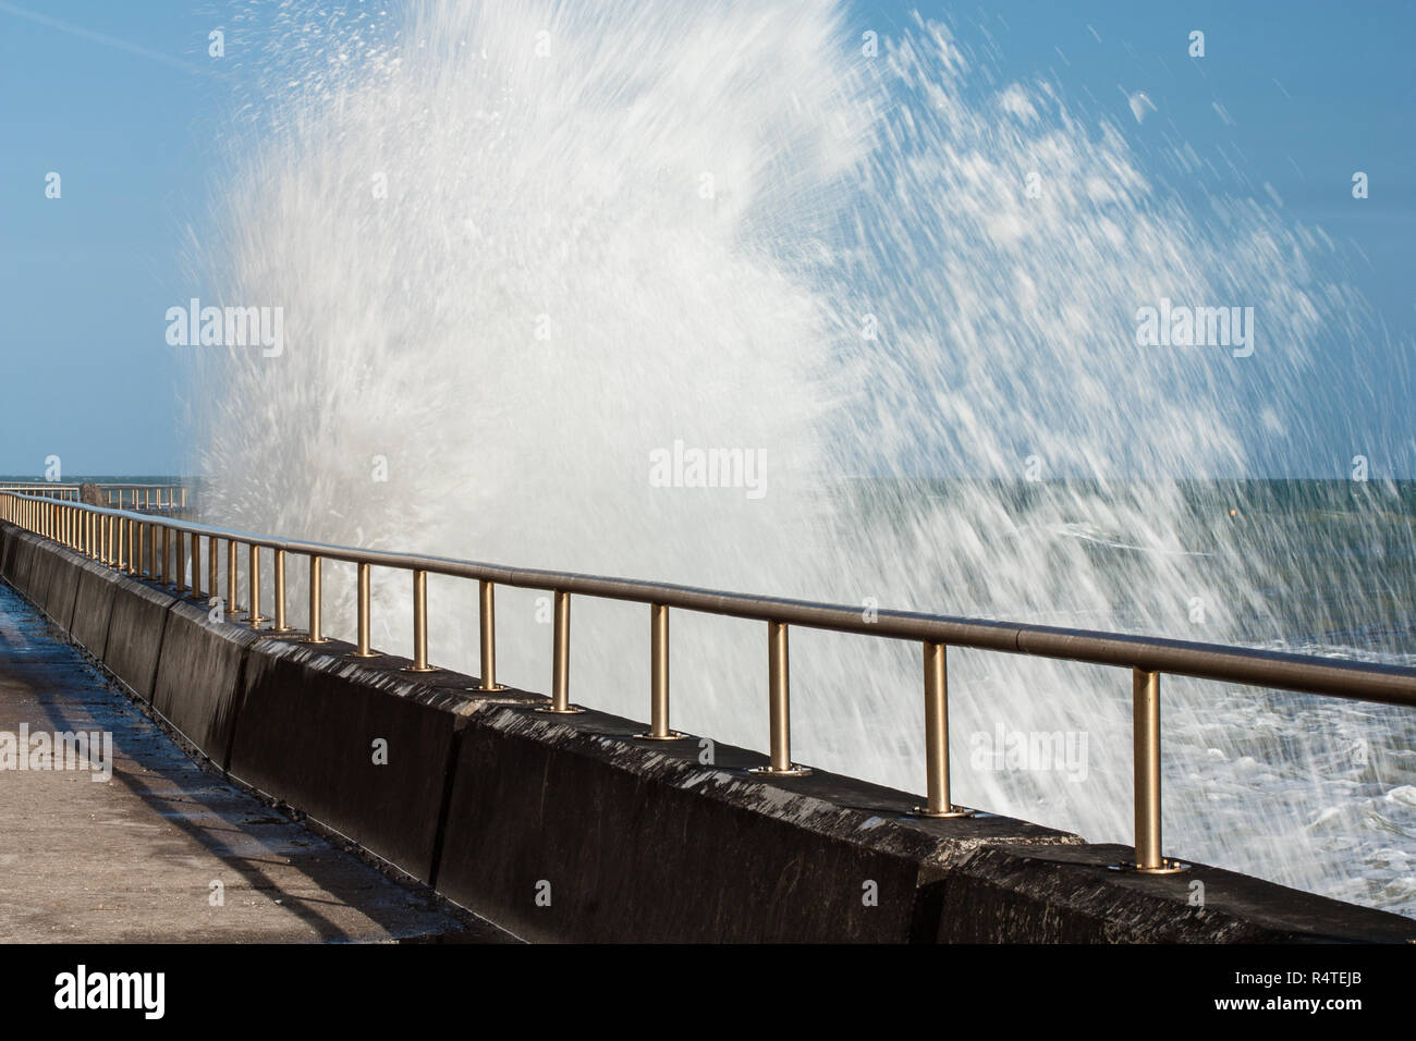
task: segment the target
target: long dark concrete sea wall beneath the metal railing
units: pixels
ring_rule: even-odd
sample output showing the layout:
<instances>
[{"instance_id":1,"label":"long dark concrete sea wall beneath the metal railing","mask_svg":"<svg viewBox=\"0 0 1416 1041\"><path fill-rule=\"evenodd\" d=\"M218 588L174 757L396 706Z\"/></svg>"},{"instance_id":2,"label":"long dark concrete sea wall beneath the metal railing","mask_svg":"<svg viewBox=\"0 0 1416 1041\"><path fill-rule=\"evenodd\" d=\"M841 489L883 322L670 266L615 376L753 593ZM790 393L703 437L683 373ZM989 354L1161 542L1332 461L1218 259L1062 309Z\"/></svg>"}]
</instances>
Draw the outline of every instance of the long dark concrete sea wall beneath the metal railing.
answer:
<instances>
[{"instance_id":1,"label":"long dark concrete sea wall beneath the metal railing","mask_svg":"<svg viewBox=\"0 0 1416 1041\"><path fill-rule=\"evenodd\" d=\"M919 820L905 792L765 779L748 772L763 755L722 744L707 765L697 741L634 739L641 722L212 622L3 523L0 578L214 769L530 940L1416 939L1398 915L1202 864L1121 874L1123 847L994 814Z\"/></svg>"}]
</instances>

